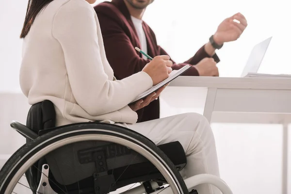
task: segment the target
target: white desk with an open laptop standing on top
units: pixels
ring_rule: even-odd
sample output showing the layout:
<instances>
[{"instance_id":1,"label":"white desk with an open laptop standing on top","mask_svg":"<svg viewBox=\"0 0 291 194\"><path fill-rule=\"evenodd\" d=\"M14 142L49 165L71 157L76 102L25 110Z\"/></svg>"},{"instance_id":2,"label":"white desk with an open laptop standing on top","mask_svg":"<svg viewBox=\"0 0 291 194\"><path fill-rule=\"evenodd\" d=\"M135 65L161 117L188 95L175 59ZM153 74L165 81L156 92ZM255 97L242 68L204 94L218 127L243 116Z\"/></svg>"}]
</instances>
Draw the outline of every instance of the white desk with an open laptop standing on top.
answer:
<instances>
[{"instance_id":1,"label":"white desk with an open laptop standing on top","mask_svg":"<svg viewBox=\"0 0 291 194\"><path fill-rule=\"evenodd\" d=\"M287 194L288 124L291 123L291 79L286 78L218 78L178 77L172 81L162 99L177 108L189 108L204 102L175 100L183 90L198 87L206 91L204 116L218 123L270 123L283 125L282 194ZM195 89L196 90L196 89ZM193 95L193 93L191 94ZM198 92L197 95L203 95ZM198 97L199 98L199 97ZM203 99L199 98L199 99Z\"/></svg>"}]
</instances>

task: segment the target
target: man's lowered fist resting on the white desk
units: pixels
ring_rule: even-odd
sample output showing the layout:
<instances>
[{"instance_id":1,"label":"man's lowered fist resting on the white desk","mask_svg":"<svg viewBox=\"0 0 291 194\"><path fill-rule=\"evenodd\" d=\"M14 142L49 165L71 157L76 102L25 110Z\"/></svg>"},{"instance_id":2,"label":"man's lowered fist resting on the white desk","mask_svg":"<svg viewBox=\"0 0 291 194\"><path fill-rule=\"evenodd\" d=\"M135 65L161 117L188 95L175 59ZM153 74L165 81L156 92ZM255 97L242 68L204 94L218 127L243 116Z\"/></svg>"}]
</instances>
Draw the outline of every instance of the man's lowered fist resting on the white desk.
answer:
<instances>
[{"instance_id":1,"label":"man's lowered fist resting on the white desk","mask_svg":"<svg viewBox=\"0 0 291 194\"><path fill-rule=\"evenodd\" d=\"M194 67L197 69L199 76L219 76L218 68L213 58L204 58Z\"/></svg>"}]
</instances>

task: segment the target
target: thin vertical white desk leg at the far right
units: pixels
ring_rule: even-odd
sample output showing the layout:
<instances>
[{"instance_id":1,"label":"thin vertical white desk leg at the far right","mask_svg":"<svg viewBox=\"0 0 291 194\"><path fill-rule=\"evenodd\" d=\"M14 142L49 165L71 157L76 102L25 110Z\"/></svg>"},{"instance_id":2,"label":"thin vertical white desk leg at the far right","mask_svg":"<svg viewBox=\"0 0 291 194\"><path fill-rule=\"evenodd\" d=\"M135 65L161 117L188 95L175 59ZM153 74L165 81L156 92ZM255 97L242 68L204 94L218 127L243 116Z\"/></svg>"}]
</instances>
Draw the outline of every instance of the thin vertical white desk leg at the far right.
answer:
<instances>
[{"instance_id":1,"label":"thin vertical white desk leg at the far right","mask_svg":"<svg viewBox=\"0 0 291 194\"><path fill-rule=\"evenodd\" d=\"M282 194L288 190L288 123L283 124Z\"/></svg>"}]
</instances>

